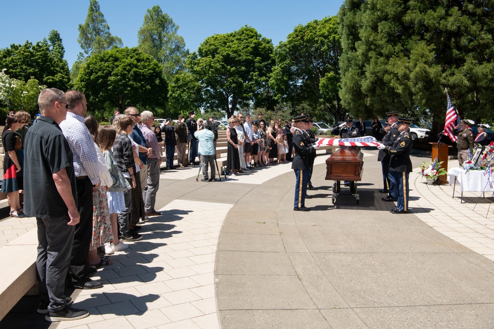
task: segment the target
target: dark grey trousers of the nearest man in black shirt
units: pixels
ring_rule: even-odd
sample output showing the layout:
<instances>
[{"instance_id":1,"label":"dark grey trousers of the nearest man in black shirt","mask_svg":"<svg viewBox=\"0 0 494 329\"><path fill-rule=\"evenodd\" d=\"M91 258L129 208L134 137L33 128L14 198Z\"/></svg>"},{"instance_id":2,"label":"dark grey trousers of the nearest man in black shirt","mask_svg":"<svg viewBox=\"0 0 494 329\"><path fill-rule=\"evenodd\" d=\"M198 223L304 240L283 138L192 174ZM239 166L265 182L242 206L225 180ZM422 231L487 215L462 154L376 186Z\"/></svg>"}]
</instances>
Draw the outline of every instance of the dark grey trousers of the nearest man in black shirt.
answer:
<instances>
[{"instance_id":1,"label":"dark grey trousers of the nearest man in black shirt","mask_svg":"<svg viewBox=\"0 0 494 329\"><path fill-rule=\"evenodd\" d=\"M75 226L67 225L69 216L36 218L38 223L38 257L36 269L40 299L49 303L52 312L65 308L65 277L69 268ZM20 255L21 256L21 255Z\"/></svg>"}]
</instances>

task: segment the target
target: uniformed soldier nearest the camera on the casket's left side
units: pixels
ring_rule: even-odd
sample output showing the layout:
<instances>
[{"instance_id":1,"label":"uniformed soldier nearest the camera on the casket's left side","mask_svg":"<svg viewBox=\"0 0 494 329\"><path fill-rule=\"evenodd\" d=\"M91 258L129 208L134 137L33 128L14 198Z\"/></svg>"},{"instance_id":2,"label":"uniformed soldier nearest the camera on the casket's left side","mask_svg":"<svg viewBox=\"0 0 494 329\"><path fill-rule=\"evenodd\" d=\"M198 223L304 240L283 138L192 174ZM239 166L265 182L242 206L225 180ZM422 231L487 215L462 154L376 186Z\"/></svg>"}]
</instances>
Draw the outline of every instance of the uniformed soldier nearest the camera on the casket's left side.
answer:
<instances>
[{"instance_id":1,"label":"uniformed soldier nearest the camera on the casket's left side","mask_svg":"<svg viewBox=\"0 0 494 329\"><path fill-rule=\"evenodd\" d=\"M310 211L305 207L305 195L307 193L307 181L310 168L310 153L319 148L311 145L310 138L305 129L307 129L308 120L306 115L300 115L293 118L295 131L293 132L293 148L295 157L291 162L291 169L295 172L295 200L293 203L294 211Z\"/></svg>"}]
</instances>

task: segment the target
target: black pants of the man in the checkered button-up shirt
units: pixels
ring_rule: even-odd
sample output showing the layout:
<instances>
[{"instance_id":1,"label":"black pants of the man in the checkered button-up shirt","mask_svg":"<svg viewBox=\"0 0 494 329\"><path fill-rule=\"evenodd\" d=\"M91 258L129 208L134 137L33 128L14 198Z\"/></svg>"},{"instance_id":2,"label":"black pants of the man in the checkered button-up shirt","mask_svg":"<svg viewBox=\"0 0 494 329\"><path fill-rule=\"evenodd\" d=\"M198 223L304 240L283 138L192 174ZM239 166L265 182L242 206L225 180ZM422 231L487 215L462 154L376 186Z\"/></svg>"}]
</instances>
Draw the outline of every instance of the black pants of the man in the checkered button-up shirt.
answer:
<instances>
[{"instance_id":1,"label":"black pants of the man in the checkered button-up shirt","mask_svg":"<svg viewBox=\"0 0 494 329\"><path fill-rule=\"evenodd\" d=\"M81 220L74 233L69 272L73 280L79 281L87 277L85 267L92 237L92 183L89 179L77 180L77 210Z\"/></svg>"}]
</instances>

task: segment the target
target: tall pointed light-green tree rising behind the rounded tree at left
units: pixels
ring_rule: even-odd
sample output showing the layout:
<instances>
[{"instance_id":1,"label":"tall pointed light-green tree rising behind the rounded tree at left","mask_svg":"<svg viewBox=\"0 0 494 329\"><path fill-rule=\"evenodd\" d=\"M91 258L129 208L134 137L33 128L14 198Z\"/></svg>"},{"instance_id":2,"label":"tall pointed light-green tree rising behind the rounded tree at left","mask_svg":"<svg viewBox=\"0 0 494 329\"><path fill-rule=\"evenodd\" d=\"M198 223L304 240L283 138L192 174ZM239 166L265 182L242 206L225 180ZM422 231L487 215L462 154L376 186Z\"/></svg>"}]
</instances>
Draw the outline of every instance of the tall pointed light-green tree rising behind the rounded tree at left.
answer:
<instances>
[{"instance_id":1,"label":"tall pointed light-green tree rising behind the rounded tree at left","mask_svg":"<svg viewBox=\"0 0 494 329\"><path fill-rule=\"evenodd\" d=\"M96 0L89 1L89 9L84 24L79 24L77 41L85 56L99 54L102 51L123 47L122 39L112 36L110 26L99 8Z\"/></svg>"}]
</instances>

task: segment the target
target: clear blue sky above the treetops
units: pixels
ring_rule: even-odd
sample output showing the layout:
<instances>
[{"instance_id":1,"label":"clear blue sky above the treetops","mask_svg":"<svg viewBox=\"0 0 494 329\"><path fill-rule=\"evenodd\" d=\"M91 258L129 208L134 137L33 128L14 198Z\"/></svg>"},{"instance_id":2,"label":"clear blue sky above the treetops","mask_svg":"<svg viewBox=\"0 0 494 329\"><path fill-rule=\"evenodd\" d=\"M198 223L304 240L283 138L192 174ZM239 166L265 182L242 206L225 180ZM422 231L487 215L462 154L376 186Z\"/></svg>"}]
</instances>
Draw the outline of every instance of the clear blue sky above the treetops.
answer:
<instances>
[{"instance_id":1,"label":"clear blue sky above the treetops","mask_svg":"<svg viewBox=\"0 0 494 329\"><path fill-rule=\"evenodd\" d=\"M163 1L100 0L110 32L122 38L124 46L137 46L137 31L146 10L160 5L179 26L186 47L195 51L206 37L229 33L249 25L277 45L286 40L298 24L338 13L343 0L251 0L251 1ZM57 30L65 46L69 68L81 50L79 24L87 16L89 0L4 0L0 4L0 48L26 40L40 41Z\"/></svg>"}]
</instances>

